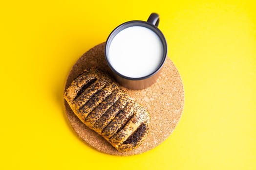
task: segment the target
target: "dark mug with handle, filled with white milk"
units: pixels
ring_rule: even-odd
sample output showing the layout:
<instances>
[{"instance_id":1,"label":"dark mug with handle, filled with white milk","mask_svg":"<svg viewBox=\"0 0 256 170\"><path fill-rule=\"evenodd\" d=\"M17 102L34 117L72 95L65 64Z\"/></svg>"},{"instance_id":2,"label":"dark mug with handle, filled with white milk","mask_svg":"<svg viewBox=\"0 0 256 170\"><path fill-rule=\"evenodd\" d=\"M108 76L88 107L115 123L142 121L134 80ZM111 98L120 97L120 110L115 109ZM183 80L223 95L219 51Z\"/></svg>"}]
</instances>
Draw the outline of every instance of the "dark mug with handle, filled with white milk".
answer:
<instances>
[{"instance_id":1,"label":"dark mug with handle, filled with white milk","mask_svg":"<svg viewBox=\"0 0 256 170\"><path fill-rule=\"evenodd\" d=\"M105 57L117 82L129 89L154 84L167 58L167 43L157 28L159 15L116 27L107 38Z\"/></svg>"}]
</instances>

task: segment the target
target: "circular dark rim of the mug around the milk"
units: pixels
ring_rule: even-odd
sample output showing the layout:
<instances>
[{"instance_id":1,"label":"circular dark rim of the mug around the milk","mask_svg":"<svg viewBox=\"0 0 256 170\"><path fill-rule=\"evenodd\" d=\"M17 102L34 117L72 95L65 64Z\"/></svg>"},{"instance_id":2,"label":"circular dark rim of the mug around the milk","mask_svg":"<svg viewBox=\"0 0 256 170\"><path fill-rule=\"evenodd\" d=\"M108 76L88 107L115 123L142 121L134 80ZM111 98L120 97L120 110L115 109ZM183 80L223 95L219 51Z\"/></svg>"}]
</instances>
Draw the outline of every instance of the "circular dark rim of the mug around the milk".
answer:
<instances>
[{"instance_id":1,"label":"circular dark rim of the mug around the milk","mask_svg":"<svg viewBox=\"0 0 256 170\"><path fill-rule=\"evenodd\" d=\"M136 25L139 24L139 25ZM130 25L130 26L128 26ZM107 46L109 46L111 44L112 39L115 37L116 34L118 34L119 32L121 32L122 30L128 28L128 27L133 27L133 26L143 26L146 25L144 27L150 29L151 31L153 31L155 34L157 34L157 36L160 38L162 45L163 45L163 59L160 63L160 65L158 66L158 68L156 70L154 70L152 73L150 73L149 75L143 76L143 77L128 77L125 76L121 73L119 73L115 68L112 67L112 65L110 64L110 61L108 60L109 56L107 57L107 52L109 50L109 47L107 48ZM127 27L125 27L127 26ZM124 27L122 29L122 27ZM152 29L151 29L152 28ZM119 30L120 29L120 30ZM116 34L115 34L116 33ZM111 39L112 38L112 39ZM110 41L111 40L111 41ZM109 42L110 41L110 42ZM109 44L109 45L108 45ZM132 21L127 21L124 22L122 24L120 24L119 26L117 26L107 37L107 41L106 41L106 45L105 45L105 58L107 61L107 65L108 67L118 76L121 76L127 80L145 80L149 77L152 77L153 75L155 75L157 72L159 72L161 70L161 68L164 66L164 63L166 61L167 58L167 52L168 52L168 48L167 48L167 42L165 39L164 34L159 30L158 27L156 27L155 25L147 22L147 21L142 21L142 20L132 20Z\"/></svg>"}]
</instances>

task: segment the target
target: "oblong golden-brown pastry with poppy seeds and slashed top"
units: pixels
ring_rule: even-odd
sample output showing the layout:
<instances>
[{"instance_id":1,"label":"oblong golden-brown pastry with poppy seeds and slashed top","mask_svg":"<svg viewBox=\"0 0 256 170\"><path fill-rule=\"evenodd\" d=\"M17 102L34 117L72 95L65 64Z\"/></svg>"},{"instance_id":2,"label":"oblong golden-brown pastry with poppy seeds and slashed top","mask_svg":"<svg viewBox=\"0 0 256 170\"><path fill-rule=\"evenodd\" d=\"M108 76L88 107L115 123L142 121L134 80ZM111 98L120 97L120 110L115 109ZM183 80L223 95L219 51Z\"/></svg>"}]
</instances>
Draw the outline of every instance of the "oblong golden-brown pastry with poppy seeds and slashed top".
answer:
<instances>
[{"instance_id":1,"label":"oblong golden-brown pastry with poppy seeds and slashed top","mask_svg":"<svg viewBox=\"0 0 256 170\"><path fill-rule=\"evenodd\" d=\"M118 151L139 146L149 131L149 113L106 73L89 68L64 91L75 115Z\"/></svg>"}]
</instances>

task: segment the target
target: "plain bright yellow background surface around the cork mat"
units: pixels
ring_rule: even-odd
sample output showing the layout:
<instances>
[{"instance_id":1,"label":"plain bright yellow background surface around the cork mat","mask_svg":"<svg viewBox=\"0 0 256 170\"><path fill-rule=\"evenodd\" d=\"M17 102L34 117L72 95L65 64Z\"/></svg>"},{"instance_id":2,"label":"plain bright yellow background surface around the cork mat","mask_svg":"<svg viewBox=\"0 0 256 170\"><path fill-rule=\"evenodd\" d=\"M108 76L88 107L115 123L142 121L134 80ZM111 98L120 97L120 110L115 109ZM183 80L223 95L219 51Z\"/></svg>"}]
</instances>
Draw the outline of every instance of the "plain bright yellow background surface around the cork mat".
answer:
<instances>
[{"instance_id":1,"label":"plain bright yellow background surface around the cork mat","mask_svg":"<svg viewBox=\"0 0 256 170\"><path fill-rule=\"evenodd\" d=\"M1 1L0 170L256 170L255 9L253 0ZM151 12L184 82L182 118L147 153L99 153L65 117L66 76L117 25Z\"/></svg>"}]
</instances>

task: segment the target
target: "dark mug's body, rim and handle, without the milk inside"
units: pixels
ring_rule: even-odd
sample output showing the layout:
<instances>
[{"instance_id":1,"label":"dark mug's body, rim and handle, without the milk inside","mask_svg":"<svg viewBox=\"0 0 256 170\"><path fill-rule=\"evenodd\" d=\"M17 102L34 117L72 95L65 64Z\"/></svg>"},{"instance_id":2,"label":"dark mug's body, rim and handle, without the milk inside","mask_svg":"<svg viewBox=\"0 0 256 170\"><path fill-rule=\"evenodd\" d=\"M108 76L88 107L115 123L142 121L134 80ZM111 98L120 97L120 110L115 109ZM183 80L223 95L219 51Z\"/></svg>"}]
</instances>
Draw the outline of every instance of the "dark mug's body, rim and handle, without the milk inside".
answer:
<instances>
[{"instance_id":1,"label":"dark mug's body, rim and handle, without the milk inside","mask_svg":"<svg viewBox=\"0 0 256 170\"><path fill-rule=\"evenodd\" d=\"M166 61L167 58L167 42L166 39L163 35L163 33L157 28L159 24L159 15L156 13L152 13L147 22L146 21L141 21L141 20L132 20L125 22L118 27L116 27L108 36L107 42L106 42L106 47L105 47L105 57L107 61L107 65L109 68L112 70L113 75L117 82L128 88L128 89L134 89L134 90L140 90L149 87L150 85L154 84L156 80L158 79L160 72L163 68L163 65ZM113 38L120 33L122 30L129 28L129 27L134 27L134 26L140 26L140 27L145 27L153 31L160 39L161 44L162 44L162 58L159 66L150 74L143 76L143 77L128 77L126 75L121 74L118 72L111 64L110 58L109 58L109 48L110 44L113 40ZM134 61L136 62L136 61Z\"/></svg>"}]
</instances>

